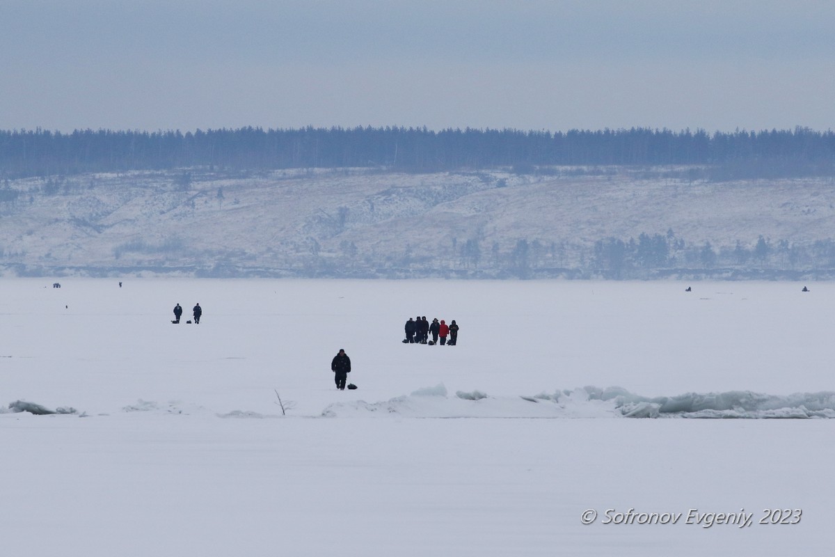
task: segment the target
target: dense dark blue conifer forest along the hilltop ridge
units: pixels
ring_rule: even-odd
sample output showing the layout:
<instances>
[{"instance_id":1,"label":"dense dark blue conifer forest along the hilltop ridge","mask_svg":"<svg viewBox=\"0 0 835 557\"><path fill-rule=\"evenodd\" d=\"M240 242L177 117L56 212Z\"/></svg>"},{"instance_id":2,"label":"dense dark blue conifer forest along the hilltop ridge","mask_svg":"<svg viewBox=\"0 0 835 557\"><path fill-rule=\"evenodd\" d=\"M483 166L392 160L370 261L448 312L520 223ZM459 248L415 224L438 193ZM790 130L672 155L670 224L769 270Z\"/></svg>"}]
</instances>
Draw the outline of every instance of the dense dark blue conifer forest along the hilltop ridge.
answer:
<instances>
[{"instance_id":1,"label":"dense dark blue conifer forest along the hilltop ridge","mask_svg":"<svg viewBox=\"0 0 835 557\"><path fill-rule=\"evenodd\" d=\"M710 168L691 170L691 178L713 180L835 175L835 133L807 128L714 134L648 128L0 130L0 179L190 167L404 172L511 167L529 173L566 165L701 165Z\"/></svg>"}]
</instances>

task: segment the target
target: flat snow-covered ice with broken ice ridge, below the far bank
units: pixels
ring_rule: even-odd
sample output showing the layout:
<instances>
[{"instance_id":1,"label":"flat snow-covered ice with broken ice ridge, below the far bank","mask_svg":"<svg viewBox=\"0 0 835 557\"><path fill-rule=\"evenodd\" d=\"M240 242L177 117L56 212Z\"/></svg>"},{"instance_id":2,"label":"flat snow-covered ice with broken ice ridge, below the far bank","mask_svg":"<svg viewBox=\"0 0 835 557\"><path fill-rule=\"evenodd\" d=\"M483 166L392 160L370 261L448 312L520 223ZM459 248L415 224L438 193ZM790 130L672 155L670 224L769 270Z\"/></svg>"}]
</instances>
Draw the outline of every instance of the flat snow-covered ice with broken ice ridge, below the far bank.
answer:
<instances>
[{"instance_id":1,"label":"flat snow-covered ice with broken ice ridge, below the far bank","mask_svg":"<svg viewBox=\"0 0 835 557\"><path fill-rule=\"evenodd\" d=\"M835 542L831 283L2 280L3 554Z\"/></svg>"}]
</instances>

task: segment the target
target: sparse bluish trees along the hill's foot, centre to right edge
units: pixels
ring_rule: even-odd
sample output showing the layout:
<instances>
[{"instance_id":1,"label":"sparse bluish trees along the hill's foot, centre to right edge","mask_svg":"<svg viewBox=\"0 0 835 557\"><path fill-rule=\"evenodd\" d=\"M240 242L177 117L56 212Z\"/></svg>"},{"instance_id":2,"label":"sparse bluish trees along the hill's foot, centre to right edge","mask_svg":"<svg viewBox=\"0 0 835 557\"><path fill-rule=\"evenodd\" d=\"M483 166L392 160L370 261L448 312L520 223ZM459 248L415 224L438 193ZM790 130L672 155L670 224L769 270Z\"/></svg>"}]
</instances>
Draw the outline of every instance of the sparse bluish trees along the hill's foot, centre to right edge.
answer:
<instances>
[{"instance_id":1,"label":"sparse bluish trees along the hill's foot, centre to right edge","mask_svg":"<svg viewBox=\"0 0 835 557\"><path fill-rule=\"evenodd\" d=\"M299 261L304 261L303 265ZM309 250L282 265L286 269L293 266L301 270L300 276L831 279L835 276L835 241L774 241L760 235L756 240L714 245L710 241L686 241L670 229L665 234L641 233L637 238L610 236L593 246L527 238L502 244L452 238L439 243L433 256L417 256L409 244L402 251L362 253L352 242L343 241L338 252Z\"/></svg>"}]
</instances>

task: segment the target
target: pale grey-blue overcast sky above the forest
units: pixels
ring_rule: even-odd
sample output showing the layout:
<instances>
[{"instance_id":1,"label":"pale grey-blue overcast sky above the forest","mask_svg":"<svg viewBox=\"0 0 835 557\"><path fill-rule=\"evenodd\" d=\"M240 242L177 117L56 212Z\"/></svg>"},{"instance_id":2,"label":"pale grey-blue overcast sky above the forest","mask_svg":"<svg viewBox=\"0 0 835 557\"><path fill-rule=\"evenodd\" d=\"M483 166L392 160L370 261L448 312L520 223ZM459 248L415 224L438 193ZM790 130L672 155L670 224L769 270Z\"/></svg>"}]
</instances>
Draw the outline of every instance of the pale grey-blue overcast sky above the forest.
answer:
<instances>
[{"instance_id":1,"label":"pale grey-blue overcast sky above the forest","mask_svg":"<svg viewBox=\"0 0 835 557\"><path fill-rule=\"evenodd\" d=\"M0 0L0 129L831 129L832 0Z\"/></svg>"}]
</instances>

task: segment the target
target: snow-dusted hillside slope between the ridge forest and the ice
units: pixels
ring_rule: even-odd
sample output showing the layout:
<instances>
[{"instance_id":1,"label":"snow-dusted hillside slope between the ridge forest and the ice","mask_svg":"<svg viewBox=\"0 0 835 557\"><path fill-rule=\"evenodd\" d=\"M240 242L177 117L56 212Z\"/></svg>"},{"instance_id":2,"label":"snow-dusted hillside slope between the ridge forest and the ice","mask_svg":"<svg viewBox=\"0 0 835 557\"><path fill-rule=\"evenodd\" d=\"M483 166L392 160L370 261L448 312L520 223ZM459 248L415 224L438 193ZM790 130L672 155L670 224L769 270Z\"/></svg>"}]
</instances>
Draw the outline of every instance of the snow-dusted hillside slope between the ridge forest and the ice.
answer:
<instances>
[{"instance_id":1,"label":"snow-dusted hillside slope between the ridge forest and the ice","mask_svg":"<svg viewBox=\"0 0 835 557\"><path fill-rule=\"evenodd\" d=\"M669 175L190 169L9 180L0 266L44 276L499 278L829 276L835 267L831 179Z\"/></svg>"}]
</instances>

